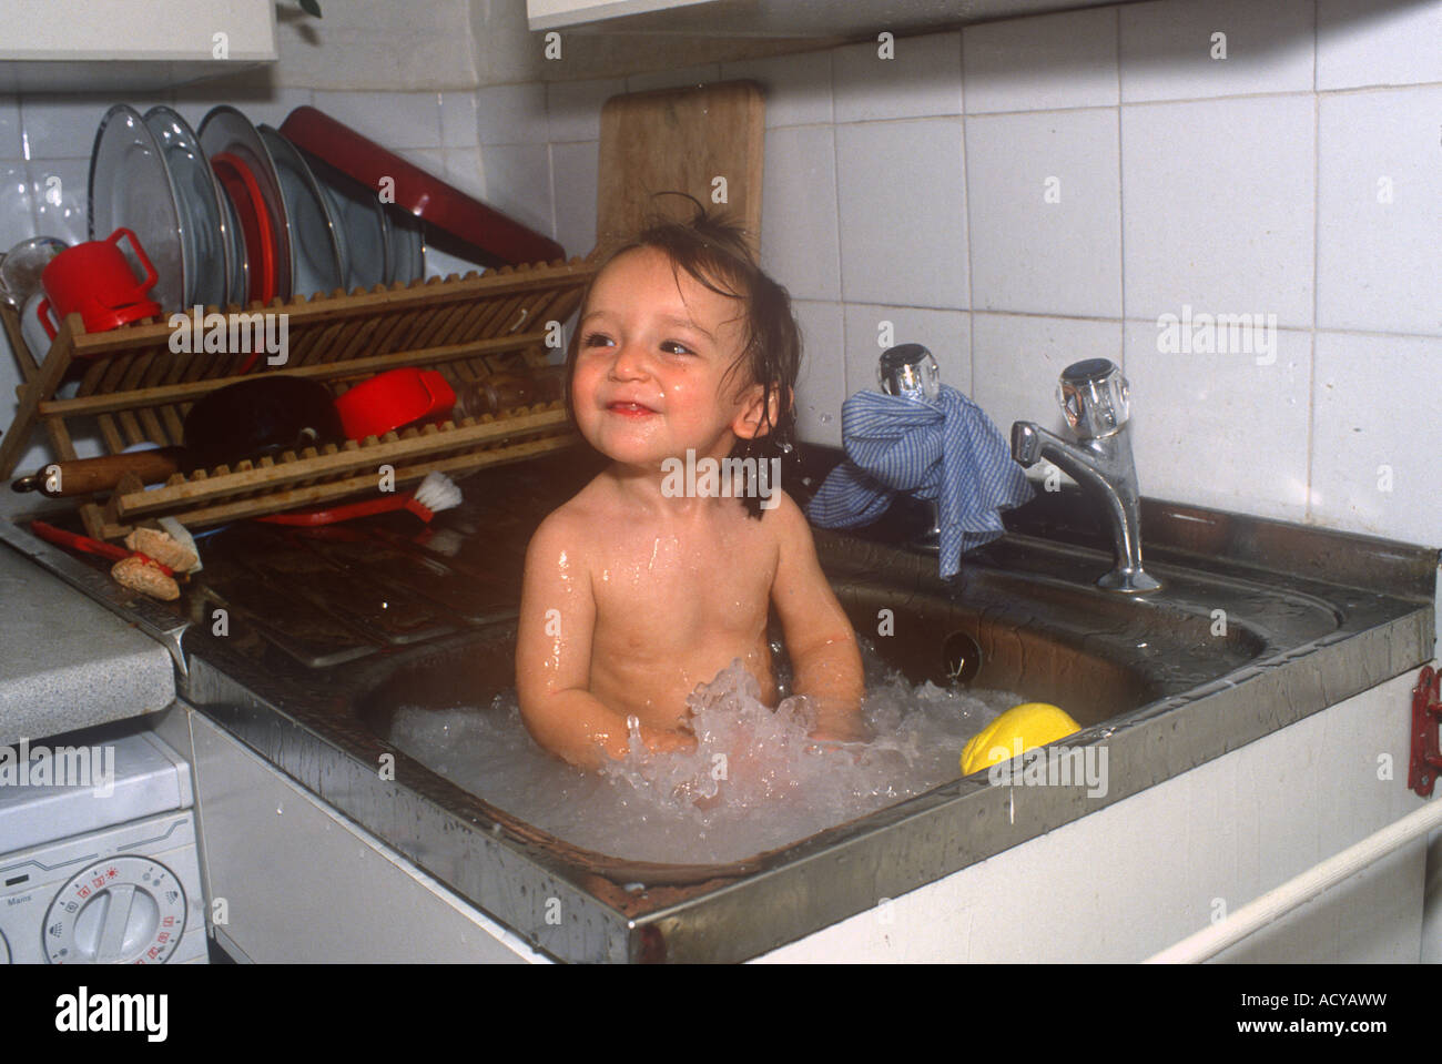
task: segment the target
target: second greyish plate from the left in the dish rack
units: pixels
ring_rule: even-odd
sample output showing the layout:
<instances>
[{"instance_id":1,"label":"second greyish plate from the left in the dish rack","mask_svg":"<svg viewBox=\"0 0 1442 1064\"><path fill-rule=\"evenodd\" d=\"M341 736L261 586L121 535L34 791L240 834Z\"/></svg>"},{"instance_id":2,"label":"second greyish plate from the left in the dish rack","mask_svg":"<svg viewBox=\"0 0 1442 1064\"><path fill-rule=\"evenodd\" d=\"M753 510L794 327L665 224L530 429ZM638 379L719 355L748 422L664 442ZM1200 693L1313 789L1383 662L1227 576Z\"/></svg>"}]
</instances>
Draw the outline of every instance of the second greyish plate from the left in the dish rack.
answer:
<instances>
[{"instance_id":1,"label":"second greyish plate from the left in the dish rack","mask_svg":"<svg viewBox=\"0 0 1442 1064\"><path fill-rule=\"evenodd\" d=\"M226 244L231 222L221 206L221 196L225 195L221 183L185 118L169 107L151 107L144 121L159 141L170 172L170 189L180 219L185 306L224 304L231 293Z\"/></svg>"}]
</instances>

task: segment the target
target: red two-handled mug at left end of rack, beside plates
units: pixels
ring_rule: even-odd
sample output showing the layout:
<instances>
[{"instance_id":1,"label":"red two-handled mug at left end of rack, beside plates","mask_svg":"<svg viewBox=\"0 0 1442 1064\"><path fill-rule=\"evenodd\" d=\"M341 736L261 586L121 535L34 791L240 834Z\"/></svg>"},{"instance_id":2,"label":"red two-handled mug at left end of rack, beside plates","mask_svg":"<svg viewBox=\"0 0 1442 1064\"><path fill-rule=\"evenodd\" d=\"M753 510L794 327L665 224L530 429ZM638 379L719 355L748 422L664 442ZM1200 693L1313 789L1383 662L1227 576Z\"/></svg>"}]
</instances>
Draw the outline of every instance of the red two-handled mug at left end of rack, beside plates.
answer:
<instances>
[{"instance_id":1,"label":"red two-handled mug at left end of rack, beside plates","mask_svg":"<svg viewBox=\"0 0 1442 1064\"><path fill-rule=\"evenodd\" d=\"M136 272L120 249L121 236L130 238L130 247L146 270L143 281L136 281ZM130 229L115 229L102 241L76 244L52 258L40 274L40 287L46 294L40 301L40 323L53 340L56 327L50 324L52 303L56 320L79 311L88 333L156 317L160 314L160 304L149 296L157 278L150 257Z\"/></svg>"}]
</instances>

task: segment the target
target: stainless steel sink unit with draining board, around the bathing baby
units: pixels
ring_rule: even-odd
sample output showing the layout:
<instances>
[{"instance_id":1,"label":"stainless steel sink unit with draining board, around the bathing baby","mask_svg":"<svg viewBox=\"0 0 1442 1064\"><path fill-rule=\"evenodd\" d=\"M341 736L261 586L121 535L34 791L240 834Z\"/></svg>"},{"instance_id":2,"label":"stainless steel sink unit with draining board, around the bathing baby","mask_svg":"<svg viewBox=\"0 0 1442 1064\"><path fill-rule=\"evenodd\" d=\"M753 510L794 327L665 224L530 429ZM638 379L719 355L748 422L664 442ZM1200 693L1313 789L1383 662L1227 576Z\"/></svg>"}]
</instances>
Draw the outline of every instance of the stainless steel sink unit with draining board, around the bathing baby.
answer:
<instances>
[{"instance_id":1,"label":"stainless steel sink unit with draining board, around the bathing baby","mask_svg":"<svg viewBox=\"0 0 1442 1064\"><path fill-rule=\"evenodd\" d=\"M949 582L937 577L934 557L877 542L903 539L897 528L878 526L871 541L818 533L823 568L852 623L888 665L911 680L1009 689L1066 706L1083 725L1069 744L1107 747L1105 796L1057 786L1012 804L1009 787L978 773L743 861L663 865L596 854L513 816L505 796L483 800L461 790L391 742L401 704L489 705L490 695L513 686L508 595L518 590L516 552L584 476L565 456L487 471L466 483L470 502L460 512L421 536L414 526L398 531L404 525L329 539L244 531L229 554L208 552L215 587L196 588L170 614L172 631L185 627L187 672L177 686L192 705L565 960L757 956L1220 757L1432 655L1438 555L1426 548L1144 499L1148 571L1164 588L1119 597L1094 585L1112 564L1110 541L1074 493L1043 493L1008 515L1008 535L966 555ZM3 535L76 584L94 574L14 528ZM382 548L404 558L381 564ZM262 607L242 601L254 582L284 585L252 572L258 558L291 581L296 616L317 584L350 587L355 598L323 624L277 636L260 623ZM402 562L411 575L397 581ZM421 600L434 608L424 613ZM235 611L225 637L209 624L185 626L211 617L218 603ZM124 611L133 603L111 606ZM891 611L890 636L878 634L883 610ZM154 627L153 614L140 621ZM339 646L326 642L336 637L323 631L327 624L353 631L363 653L327 660ZM293 642L307 636L311 643L297 650ZM395 779L376 771L386 754ZM561 923L547 918L557 904Z\"/></svg>"}]
</instances>

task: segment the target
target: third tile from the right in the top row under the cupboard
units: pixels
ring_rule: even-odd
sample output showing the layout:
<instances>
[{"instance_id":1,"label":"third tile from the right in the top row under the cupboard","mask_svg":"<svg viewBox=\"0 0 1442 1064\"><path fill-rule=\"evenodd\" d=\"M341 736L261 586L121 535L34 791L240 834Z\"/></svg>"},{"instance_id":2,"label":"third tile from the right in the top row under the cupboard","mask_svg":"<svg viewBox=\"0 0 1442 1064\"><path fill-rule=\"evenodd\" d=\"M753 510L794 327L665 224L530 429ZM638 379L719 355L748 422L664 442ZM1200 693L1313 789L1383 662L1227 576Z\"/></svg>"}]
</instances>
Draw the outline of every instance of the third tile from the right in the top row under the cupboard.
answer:
<instances>
[{"instance_id":1,"label":"third tile from the right in the top row under the cupboard","mask_svg":"<svg viewBox=\"0 0 1442 1064\"><path fill-rule=\"evenodd\" d=\"M968 26L962 75L968 114L1113 107L1116 9Z\"/></svg>"}]
</instances>

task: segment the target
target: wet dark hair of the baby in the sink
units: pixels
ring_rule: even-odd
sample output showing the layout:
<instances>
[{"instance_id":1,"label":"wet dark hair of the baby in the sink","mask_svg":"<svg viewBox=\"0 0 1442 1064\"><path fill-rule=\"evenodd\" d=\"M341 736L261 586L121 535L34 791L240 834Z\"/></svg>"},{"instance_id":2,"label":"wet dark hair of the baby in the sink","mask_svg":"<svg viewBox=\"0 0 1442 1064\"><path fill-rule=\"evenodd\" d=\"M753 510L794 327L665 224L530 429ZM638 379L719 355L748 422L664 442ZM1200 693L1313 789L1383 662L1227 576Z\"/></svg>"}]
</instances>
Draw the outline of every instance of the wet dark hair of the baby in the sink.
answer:
<instances>
[{"instance_id":1,"label":"wet dark hair of the baby in the sink","mask_svg":"<svg viewBox=\"0 0 1442 1064\"><path fill-rule=\"evenodd\" d=\"M766 427L751 440L737 440L731 457L756 458L758 469L760 463L771 458L784 461L792 454L796 435L795 395L802 360L800 327L792 314L790 296L766 275L751 252L746 229L730 215L708 210L686 193L660 195L689 199L695 215L686 221L655 215L634 236L609 248L581 296L581 314L585 313L591 285L601 271L620 255L639 248L656 248L671 260L673 271L685 270L698 284L718 296L740 300L746 307L741 355L727 369L724 379L730 382L735 372L744 369L750 373L751 384L761 386ZM581 330L577 327L567 350L567 409L571 411L572 422L575 411L571 407L570 381L575 371L580 336ZM753 518L761 516L761 499L754 492L743 495L741 502Z\"/></svg>"}]
</instances>

